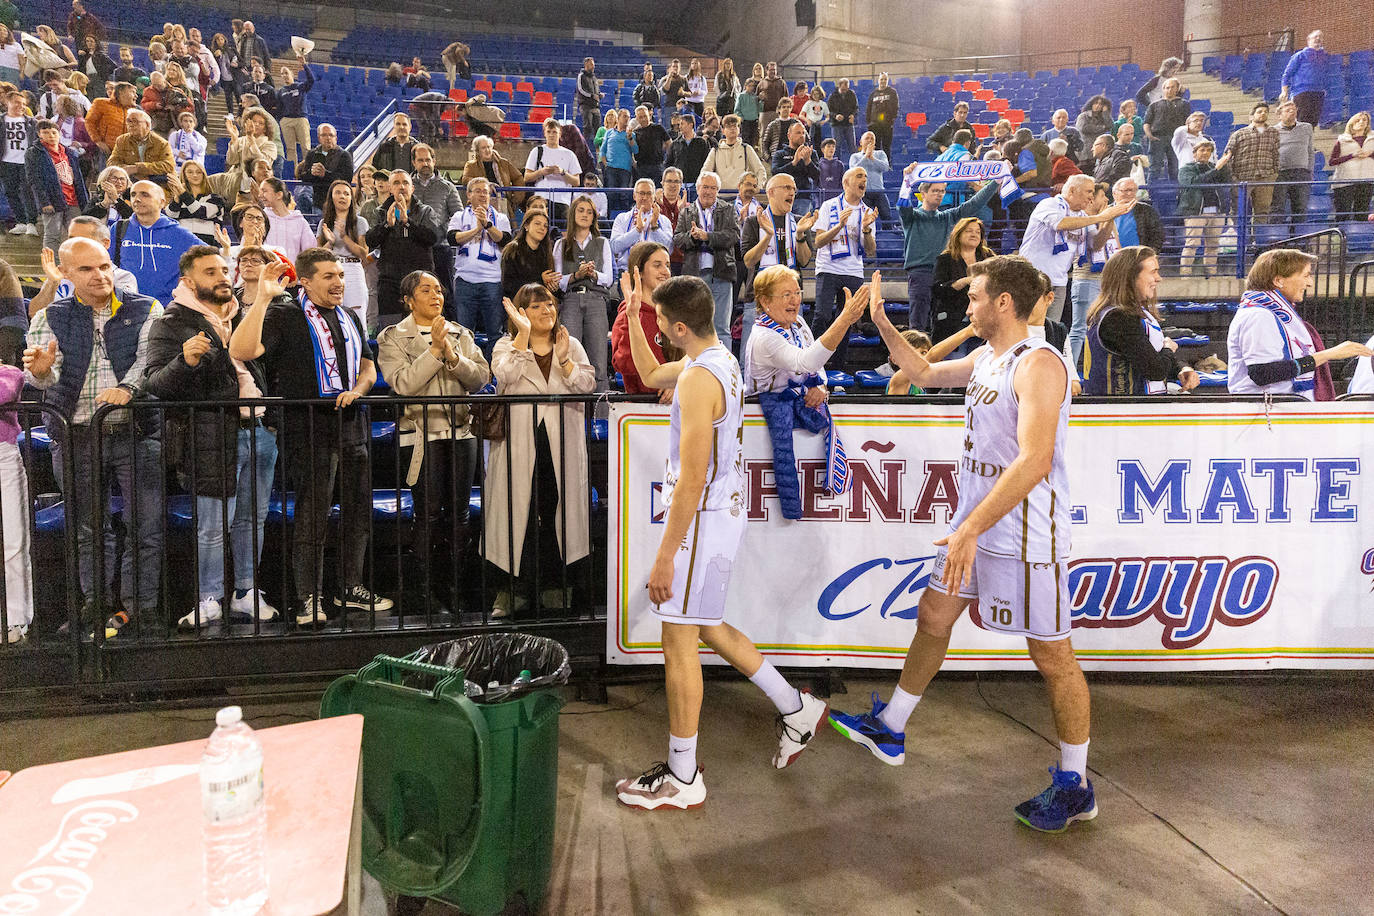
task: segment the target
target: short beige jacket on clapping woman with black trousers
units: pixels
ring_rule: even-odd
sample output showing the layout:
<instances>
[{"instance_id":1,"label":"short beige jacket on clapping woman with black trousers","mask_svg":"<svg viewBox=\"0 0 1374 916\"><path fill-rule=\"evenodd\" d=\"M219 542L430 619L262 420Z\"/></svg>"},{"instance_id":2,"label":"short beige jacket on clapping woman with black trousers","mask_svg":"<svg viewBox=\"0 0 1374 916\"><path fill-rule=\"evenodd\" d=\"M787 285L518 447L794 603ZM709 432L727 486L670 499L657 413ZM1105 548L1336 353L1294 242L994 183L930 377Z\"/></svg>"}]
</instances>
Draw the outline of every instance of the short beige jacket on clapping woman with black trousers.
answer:
<instances>
[{"instance_id":1,"label":"short beige jacket on clapping woman with black trousers","mask_svg":"<svg viewBox=\"0 0 1374 916\"><path fill-rule=\"evenodd\" d=\"M459 397L471 394L492 378L473 332L455 321L448 323L448 338L458 353L456 363L441 363L430 353L429 343L420 336L414 314L407 314L400 323L385 328L376 335L376 368L404 397ZM425 426L425 412L429 412L429 427ZM434 439L470 439L467 405L433 404L422 407L411 404L400 422L401 446L414 445L411 467L405 472L405 485L415 486L419 479L420 463L425 460L425 442ZM452 420L452 423L451 423Z\"/></svg>"}]
</instances>

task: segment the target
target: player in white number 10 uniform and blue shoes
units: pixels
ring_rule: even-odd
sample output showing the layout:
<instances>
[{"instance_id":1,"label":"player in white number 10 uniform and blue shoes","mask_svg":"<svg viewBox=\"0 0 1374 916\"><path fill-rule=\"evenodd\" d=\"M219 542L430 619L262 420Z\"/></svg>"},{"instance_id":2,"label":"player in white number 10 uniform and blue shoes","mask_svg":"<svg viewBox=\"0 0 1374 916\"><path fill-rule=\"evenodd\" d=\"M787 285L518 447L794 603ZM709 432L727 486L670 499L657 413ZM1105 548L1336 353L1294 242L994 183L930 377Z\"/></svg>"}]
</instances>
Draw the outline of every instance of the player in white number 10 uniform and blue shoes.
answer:
<instances>
[{"instance_id":1,"label":"player in white number 10 uniform and blue shoes","mask_svg":"<svg viewBox=\"0 0 1374 916\"><path fill-rule=\"evenodd\" d=\"M1069 643L1070 378L1058 352L1026 330L1040 298L1039 271L1010 255L980 261L969 273L969 320L988 345L934 365L892 327L874 273L870 312L897 368L925 389L966 387L959 509L936 541L940 552L892 699L874 696L870 713L830 718L878 759L901 764L907 720L944 662L955 621L977 599L981 626L1024 636L1050 688L1059 766L1050 768L1050 788L1015 813L1028 827L1058 832L1098 813L1087 776L1088 684Z\"/></svg>"}]
</instances>

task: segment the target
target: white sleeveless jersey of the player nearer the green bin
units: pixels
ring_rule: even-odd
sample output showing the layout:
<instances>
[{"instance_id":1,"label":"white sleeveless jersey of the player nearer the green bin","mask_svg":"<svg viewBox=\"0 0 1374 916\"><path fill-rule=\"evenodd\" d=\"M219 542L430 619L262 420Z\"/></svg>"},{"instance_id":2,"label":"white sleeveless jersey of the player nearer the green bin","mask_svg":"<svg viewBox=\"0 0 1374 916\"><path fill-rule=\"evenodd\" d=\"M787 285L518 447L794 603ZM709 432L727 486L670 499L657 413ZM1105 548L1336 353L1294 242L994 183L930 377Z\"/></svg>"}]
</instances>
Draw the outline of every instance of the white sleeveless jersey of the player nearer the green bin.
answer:
<instances>
[{"instance_id":1,"label":"white sleeveless jersey of the player nearer the green bin","mask_svg":"<svg viewBox=\"0 0 1374 916\"><path fill-rule=\"evenodd\" d=\"M698 509L742 509L745 504L745 455L743 455L743 413L745 382L739 375L739 363L723 345L705 350L695 360L686 357L683 372L701 367L716 376L725 393L725 412L713 424L710 444L710 464L706 467L706 488L701 493ZM679 445L682 442L682 412L677 398L682 389L673 391L673 407L669 420L668 468L664 471L664 505L672 505L677 478L682 477Z\"/></svg>"}]
</instances>

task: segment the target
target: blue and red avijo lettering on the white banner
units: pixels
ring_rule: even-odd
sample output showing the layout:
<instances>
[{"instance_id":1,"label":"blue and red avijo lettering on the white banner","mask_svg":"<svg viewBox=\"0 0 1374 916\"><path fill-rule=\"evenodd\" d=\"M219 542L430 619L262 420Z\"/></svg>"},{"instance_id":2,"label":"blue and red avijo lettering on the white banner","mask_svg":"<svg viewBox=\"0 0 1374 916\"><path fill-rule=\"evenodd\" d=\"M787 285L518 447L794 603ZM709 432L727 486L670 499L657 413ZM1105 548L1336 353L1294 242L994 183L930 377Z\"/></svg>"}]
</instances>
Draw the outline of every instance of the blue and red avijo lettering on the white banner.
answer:
<instances>
[{"instance_id":1,"label":"blue and red avijo lettering on the white banner","mask_svg":"<svg viewBox=\"0 0 1374 916\"><path fill-rule=\"evenodd\" d=\"M1197 645L1213 623L1245 626L1264 617L1279 584L1265 556L1084 559L1069 566L1073 625L1164 625L1165 648Z\"/></svg>"}]
</instances>

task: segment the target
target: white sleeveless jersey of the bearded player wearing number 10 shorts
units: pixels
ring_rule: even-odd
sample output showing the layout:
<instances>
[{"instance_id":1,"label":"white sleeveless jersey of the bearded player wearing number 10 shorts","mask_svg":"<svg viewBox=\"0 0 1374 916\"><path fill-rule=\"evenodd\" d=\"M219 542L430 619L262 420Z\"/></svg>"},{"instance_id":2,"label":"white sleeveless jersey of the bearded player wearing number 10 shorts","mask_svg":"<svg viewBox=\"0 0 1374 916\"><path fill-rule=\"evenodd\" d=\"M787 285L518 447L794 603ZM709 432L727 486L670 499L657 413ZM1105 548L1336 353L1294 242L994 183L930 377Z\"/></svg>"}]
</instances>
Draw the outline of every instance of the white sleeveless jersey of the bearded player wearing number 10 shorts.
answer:
<instances>
[{"instance_id":1,"label":"white sleeveless jersey of the bearded player wearing number 10 shorts","mask_svg":"<svg viewBox=\"0 0 1374 916\"><path fill-rule=\"evenodd\" d=\"M1058 352L1043 339L1026 338L1002 356L985 347L973 367L963 396L963 459L959 463L959 509L952 531L987 499L998 479L1021 452L1017 444L1020 404L1014 386L1017 364L1033 350ZM1054 434L1054 464L1048 477L1010 512L978 537L978 549L1030 563L1059 562L1069 556L1069 475L1063 461L1069 431L1069 376Z\"/></svg>"}]
</instances>

